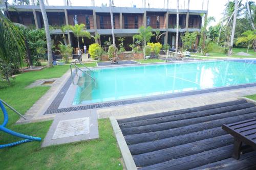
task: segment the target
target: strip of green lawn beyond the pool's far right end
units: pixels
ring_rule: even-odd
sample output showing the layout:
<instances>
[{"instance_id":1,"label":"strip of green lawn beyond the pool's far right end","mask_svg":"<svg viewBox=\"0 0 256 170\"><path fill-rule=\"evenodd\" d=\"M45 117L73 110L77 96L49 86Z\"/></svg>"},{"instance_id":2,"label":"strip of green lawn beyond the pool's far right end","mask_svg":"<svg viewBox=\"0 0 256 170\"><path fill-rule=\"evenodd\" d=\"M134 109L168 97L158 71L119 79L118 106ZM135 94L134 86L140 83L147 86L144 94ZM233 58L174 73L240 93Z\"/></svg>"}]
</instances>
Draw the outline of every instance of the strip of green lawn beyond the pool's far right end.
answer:
<instances>
[{"instance_id":1,"label":"strip of green lawn beyond the pool's far right end","mask_svg":"<svg viewBox=\"0 0 256 170\"><path fill-rule=\"evenodd\" d=\"M209 53L209 54L210 54L209 56L210 56L210 57L256 58L256 53L253 52L252 49L250 49L250 50L248 51L248 54L251 54L251 55L253 55L253 56L239 56L239 55L236 55L236 54L239 53L239 52L245 52L245 53L246 53L246 51L247 51L247 48L233 48L233 55L232 55L232 56L227 56L227 55L224 54L224 53L216 53L216 52L210 52L210 53ZM198 54L195 54L195 55L200 56L201 53L198 53ZM193 58L194 58L194 57L193 57ZM197 58L197 57L195 57L195 58ZM201 58L201 57L198 57L198 58ZM204 58L202 58L202 59L204 59ZM209 59L209 58L206 58L206 59Z\"/></svg>"}]
</instances>

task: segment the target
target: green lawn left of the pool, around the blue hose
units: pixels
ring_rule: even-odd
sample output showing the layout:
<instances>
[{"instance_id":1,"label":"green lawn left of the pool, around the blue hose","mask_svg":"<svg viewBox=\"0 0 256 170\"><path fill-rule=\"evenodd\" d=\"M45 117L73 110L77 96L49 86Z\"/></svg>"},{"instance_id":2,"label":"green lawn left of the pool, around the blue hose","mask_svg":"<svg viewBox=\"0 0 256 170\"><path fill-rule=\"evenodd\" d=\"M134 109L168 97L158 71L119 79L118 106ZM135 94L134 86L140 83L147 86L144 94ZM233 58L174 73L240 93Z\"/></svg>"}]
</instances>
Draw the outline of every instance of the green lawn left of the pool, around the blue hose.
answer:
<instances>
[{"instance_id":1,"label":"green lawn left of the pool, around the blue hose","mask_svg":"<svg viewBox=\"0 0 256 170\"><path fill-rule=\"evenodd\" d=\"M86 64L95 66L95 63ZM49 87L25 89L37 79L61 77L69 65L54 66L41 71L18 75L10 87L0 90L1 99L24 114ZM3 121L2 111L0 120ZM8 109L7 128L27 135L44 138L52 121L14 125L19 118ZM41 142L29 142L0 150L1 169L122 169L121 154L109 119L99 119L99 139L40 148ZM0 132L0 143L19 140Z\"/></svg>"}]
</instances>

